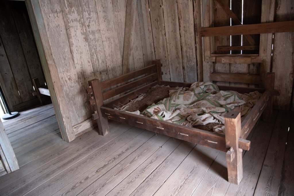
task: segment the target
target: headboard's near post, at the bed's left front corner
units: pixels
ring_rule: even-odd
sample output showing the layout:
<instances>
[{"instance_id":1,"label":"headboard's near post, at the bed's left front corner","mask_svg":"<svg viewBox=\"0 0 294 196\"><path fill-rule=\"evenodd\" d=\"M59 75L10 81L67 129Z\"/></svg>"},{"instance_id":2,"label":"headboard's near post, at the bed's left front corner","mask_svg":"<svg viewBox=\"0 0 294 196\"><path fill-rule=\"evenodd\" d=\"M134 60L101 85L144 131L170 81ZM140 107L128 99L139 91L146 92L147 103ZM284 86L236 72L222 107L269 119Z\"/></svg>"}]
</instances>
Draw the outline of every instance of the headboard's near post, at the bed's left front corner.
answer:
<instances>
[{"instance_id":1,"label":"headboard's near post, at the bed's left front corner","mask_svg":"<svg viewBox=\"0 0 294 196\"><path fill-rule=\"evenodd\" d=\"M109 126L108 119L102 116L100 109L104 105L100 82L98 79L94 79L90 80L88 84L90 88L88 93L91 94L90 103L95 110L94 114L92 114L92 119L97 121L99 134L105 136L109 133Z\"/></svg>"}]
</instances>

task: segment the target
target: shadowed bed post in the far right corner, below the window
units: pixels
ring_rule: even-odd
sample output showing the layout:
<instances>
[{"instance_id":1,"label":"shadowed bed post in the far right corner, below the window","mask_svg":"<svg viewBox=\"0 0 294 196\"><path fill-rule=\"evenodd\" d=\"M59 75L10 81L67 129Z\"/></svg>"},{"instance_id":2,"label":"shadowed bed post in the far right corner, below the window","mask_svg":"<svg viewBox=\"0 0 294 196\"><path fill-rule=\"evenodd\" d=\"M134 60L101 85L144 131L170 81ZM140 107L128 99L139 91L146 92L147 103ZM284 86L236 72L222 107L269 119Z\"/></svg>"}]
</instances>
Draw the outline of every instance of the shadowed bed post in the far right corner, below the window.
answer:
<instances>
[{"instance_id":1,"label":"shadowed bed post in the far right corner, below the window","mask_svg":"<svg viewBox=\"0 0 294 196\"><path fill-rule=\"evenodd\" d=\"M273 113L273 89L275 86L275 73L268 72L265 75L265 89L270 91L270 97L266 104L266 108L263 111L262 120L265 122L270 122L270 117Z\"/></svg>"}]
</instances>

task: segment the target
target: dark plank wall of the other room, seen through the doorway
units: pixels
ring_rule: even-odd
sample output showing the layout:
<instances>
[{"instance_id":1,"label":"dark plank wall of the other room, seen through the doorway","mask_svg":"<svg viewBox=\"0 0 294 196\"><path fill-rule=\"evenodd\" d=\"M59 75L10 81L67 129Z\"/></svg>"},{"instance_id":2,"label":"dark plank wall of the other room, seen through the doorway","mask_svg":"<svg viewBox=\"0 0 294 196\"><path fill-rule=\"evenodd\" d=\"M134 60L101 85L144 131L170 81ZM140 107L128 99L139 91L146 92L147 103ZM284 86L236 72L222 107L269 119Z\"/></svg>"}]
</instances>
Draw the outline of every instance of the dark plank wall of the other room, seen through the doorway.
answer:
<instances>
[{"instance_id":1,"label":"dark plank wall of the other room, seen through the doorway","mask_svg":"<svg viewBox=\"0 0 294 196\"><path fill-rule=\"evenodd\" d=\"M32 78L44 84L36 45L24 2L0 2L0 84L12 111L25 109L38 100Z\"/></svg>"}]
</instances>

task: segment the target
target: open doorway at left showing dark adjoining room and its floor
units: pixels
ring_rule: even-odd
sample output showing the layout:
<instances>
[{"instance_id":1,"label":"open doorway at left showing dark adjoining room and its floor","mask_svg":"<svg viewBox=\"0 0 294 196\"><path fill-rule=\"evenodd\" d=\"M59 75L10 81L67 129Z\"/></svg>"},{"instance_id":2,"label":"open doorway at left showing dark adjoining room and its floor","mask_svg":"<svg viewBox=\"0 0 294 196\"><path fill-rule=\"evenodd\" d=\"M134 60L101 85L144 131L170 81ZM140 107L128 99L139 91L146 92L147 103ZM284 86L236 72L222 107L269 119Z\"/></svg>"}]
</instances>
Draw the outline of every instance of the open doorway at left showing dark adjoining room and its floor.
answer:
<instances>
[{"instance_id":1,"label":"open doorway at left showing dark adjoining room and its floor","mask_svg":"<svg viewBox=\"0 0 294 196\"><path fill-rule=\"evenodd\" d=\"M64 142L25 1L0 1L0 65L0 85L7 105L20 114L1 121L21 167ZM39 88L47 95L37 94ZM0 117L4 113L7 109L1 99ZM4 174L0 167L0 176Z\"/></svg>"}]
</instances>

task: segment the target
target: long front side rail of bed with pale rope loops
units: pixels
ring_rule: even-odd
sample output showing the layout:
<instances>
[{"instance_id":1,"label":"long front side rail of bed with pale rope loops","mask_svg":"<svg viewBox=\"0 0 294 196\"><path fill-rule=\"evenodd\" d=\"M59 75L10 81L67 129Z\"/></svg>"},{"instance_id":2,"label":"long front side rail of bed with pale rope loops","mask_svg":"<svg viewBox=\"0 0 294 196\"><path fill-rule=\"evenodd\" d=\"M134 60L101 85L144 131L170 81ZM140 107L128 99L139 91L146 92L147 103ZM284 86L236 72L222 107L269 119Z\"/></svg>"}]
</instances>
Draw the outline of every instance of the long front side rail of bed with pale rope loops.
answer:
<instances>
[{"instance_id":1,"label":"long front side rail of bed with pale rope loops","mask_svg":"<svg viewBox=\"0 0 294 196\"><path fill-rule=\"evenodd\" d=\"M200 144L202 146L207 146L224 152L228 150L225 145L225 136L221 134L160 121L145 116L138 116L136 114L131 114L107 107L101 107L101 113L102 116L108 119L127 123L142 129L154 131L159 134L164 134L170 137ZM248 140L239 139L238 144L239 148L243 150L250 149L250 141Z\"/></svg>"}]
</instances>

